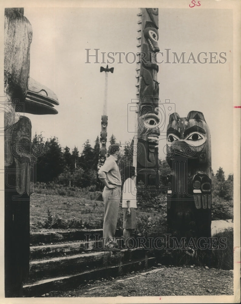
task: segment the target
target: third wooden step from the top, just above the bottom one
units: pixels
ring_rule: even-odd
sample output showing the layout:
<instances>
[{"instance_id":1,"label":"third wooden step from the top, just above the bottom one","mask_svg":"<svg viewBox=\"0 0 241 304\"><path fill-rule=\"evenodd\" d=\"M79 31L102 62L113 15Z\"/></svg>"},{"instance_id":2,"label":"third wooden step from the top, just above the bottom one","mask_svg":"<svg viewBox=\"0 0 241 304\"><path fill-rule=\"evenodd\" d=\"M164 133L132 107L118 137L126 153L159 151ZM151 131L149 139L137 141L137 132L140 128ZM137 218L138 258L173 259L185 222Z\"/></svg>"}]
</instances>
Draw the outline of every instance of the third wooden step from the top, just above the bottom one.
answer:
<instances>
[{"instance_id":1,"label":"third wooden step from the top, just above the bottom one","mask_svg":"<svg viewBox=\"0 0 241 304\"><path fill-rule=\"evenodd\" d=\"M141 257L145 254L142 248L132 250L123 249L121 251L100 251L74 254L64 257L53 257L50 259L32 260L29 264L29 278L50 277L59 274L74 273L87 268L97 267L109 261L117 264L130 258Z\"/></svg>"}]
</instances>

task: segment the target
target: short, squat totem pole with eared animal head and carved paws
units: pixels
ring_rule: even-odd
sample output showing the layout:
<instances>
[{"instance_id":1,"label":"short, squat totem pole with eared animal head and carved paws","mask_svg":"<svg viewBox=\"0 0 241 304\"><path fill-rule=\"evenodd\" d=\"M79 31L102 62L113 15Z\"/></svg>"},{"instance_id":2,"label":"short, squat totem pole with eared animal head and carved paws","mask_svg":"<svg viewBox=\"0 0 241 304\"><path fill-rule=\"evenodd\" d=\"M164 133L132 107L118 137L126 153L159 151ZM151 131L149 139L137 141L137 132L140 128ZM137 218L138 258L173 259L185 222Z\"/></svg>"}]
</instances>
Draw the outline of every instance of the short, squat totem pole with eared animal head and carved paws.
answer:
<instances>
[{"instance_id":1,"label":"short, squat totem pole with eared animal head and carved paws","mask_svg":"<svg viewBox=\"0 0 241 304\"><path fill-rule=\"evenodd\" d=\"M167 224L181 237L211 237L211 137L201 112L170 116Z\"/></svg>"}]
</instances>

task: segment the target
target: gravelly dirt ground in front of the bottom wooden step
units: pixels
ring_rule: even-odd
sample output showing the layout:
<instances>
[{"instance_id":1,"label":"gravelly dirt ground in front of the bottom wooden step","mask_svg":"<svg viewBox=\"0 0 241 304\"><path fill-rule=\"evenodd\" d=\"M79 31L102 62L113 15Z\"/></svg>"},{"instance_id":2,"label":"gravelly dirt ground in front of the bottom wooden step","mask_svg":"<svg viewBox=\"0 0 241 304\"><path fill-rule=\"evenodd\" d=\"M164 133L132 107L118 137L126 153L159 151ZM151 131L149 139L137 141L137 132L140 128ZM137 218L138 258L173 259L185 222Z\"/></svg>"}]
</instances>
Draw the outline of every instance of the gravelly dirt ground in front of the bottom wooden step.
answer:
<instances>
[{"instance_id":1,"label":"gravelly dirt ground in front of the bottom wooden step","mask_svg":"<svg viewBox=\"0 0 241 304\"><path fill-rule=\"evenodd\" d=\"M233 272L196 266L159 266L108 280L86 282L83 287L61 292L52 291L45 296L161 297L167 295L233 295Z\"/></svg>"}]
</instances>

